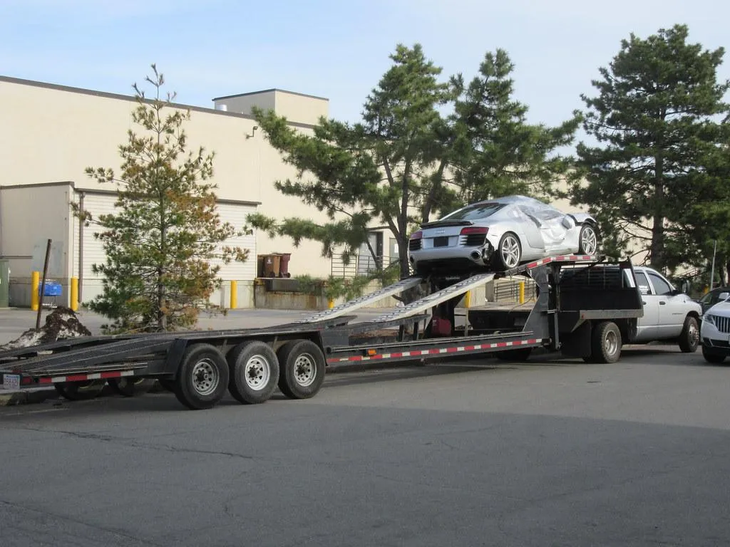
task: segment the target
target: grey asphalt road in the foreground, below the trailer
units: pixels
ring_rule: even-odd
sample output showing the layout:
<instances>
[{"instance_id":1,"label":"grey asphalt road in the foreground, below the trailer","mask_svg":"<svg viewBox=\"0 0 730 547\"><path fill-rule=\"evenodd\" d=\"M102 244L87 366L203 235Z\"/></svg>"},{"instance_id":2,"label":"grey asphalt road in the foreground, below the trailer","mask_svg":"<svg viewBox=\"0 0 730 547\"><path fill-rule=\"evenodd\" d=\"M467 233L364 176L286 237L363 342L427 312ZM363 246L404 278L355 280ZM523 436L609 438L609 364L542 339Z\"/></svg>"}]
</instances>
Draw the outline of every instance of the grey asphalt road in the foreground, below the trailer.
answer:
<instances>
[{"instance_id":1,"label":"grey asphalt road in the foreground, below the trailer","mask_svg":"<svg viewBox=\"0 0 730 547\"><path fill-rule=\"evenodd\" d=\"M730 370L439 362L310 400L0 408L0 545L726 546Z\"/></svg>"}]
</instances>

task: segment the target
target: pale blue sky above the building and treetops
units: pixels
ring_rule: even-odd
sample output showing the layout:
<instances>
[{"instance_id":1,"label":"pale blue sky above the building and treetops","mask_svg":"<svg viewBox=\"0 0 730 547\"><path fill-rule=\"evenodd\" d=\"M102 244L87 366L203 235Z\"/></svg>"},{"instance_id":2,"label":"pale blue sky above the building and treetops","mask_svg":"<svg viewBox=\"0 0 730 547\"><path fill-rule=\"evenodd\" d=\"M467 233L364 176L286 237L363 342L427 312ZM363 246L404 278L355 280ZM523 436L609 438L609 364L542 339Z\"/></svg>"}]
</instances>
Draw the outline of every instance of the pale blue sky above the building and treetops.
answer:
<instances>
[{"instance_id":1,"label":"pale blue sky above the building and treetops","mask_svg":"<svg viewBox=\"0 0 730 547\"><path fill-rule=\"evenodd\" d=\"M686 23L715 49L729 20L723 0L0 0L0 74L131 94L155 62L184 104L282 88L354 121L398 42L466 79L502 47L529 120L556 124L631 32Z\"/></svg>"}]
</instances>

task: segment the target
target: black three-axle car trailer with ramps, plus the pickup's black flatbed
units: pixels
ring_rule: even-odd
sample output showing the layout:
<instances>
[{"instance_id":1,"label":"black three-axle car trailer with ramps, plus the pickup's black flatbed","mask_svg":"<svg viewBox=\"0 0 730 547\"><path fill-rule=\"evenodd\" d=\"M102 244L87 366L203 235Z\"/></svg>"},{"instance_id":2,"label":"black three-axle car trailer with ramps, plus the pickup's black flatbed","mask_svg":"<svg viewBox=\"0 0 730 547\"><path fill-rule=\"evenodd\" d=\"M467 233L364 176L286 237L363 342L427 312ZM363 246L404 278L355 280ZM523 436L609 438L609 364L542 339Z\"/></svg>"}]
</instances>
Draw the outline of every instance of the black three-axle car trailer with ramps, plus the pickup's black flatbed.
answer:
<instances>
[{"instance_id":1,"label":"black three-axle car trailer with ramps, plus the pickup's black flatbed","mask_svg":"<svg viewBox=\"0 0 730 547\"><path fill-rule=\"evenodd\" d=\"M476 306L456 327L466 292L504 276L534 280L534 306ZM426 294L380 317L352 322L353 312L383 298ZM90 382L158 379L184 406L211 408L228 390L240 403L263 403L274 389L313 397L328 365L496 355L526 360L536 348L615 362L621 340L642 317L631 262L548 257L507 271L418 276L285 325L264 328L102 335L0 352L4 381L53 384L71 400ZM369 336L388 331L391 339Z\"/></svg>"}]
</instances>

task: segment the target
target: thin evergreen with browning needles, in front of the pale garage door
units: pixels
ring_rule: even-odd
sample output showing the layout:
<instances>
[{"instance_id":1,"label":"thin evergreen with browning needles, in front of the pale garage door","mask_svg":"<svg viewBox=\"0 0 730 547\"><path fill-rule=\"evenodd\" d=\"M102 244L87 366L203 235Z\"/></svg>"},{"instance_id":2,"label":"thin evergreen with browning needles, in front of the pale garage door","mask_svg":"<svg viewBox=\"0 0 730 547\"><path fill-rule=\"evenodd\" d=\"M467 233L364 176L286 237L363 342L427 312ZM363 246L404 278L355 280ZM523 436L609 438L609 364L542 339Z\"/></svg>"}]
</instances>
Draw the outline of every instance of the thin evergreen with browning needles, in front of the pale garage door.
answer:
<instances>
[{"instance_id":1,"label":"thin evergreen with browning needles, in front of the pale garage door","mask_svg":"<svg viewBox=\"0 0 730 547\"><path fill-rule=\"evenodd\" d=\"M116 210L85 222L101 227L98 237L106 253L94 273L103 276L103 292L90 309L112 319L111 332L175 330L195 324L201 306L220 286L220 266L245 260L247 249L223 244L237 233L216 212L213 154L188 151L183 125L190 112L171 106L174 94L162 98L163 74L152 65L155 97L145 98L137 84L132 121L140 133L128 131L119 147L120 175L111 168L87 168L88 176L117 187Z\"/></svg>"}]
</instances>

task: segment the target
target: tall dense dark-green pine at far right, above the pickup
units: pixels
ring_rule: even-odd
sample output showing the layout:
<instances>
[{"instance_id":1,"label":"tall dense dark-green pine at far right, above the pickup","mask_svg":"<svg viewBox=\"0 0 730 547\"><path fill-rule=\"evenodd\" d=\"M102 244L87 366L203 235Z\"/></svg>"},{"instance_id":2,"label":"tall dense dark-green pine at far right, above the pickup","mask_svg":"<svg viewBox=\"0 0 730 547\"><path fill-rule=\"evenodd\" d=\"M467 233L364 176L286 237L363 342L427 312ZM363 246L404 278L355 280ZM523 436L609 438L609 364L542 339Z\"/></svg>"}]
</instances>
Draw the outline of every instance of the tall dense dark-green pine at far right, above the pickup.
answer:
<instances>
[{"instance_id":1,"label":"tall dense dark-green pine at far right, above the pickup","mask_svg":"<svg viewBox=\"0 0 730 547\"><path fill-rule=\"evenodd\" d=\"M588 107L585 131L596 146L577 147L588 184L577 184L574 201L599 218L604 247L614 255L631 239L656 268L691 262L688 229L702 206L698 182L703 163L722 140L718 115L727 112L728 82L718 82L724 50L687 42L687 26L634 34L601 79ZM707 179L705 179L707 182Z\"/></svg>"}]
</instances>

